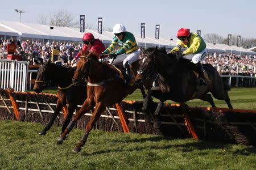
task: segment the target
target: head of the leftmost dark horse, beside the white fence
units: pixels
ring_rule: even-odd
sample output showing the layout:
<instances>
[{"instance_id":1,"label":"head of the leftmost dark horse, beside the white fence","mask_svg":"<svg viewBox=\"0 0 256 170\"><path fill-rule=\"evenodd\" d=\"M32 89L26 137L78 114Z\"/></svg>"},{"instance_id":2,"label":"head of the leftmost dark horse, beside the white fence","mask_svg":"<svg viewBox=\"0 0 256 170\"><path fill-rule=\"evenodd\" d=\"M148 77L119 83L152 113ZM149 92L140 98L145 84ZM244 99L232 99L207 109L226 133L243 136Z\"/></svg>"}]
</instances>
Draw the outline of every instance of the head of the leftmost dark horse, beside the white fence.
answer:
<instances>
[{"instance_id":1,"label":"head of the leftmost dark horse, beside the white fence","mask_svg":"<svg viewBox=\"0 0 256 170\"><path fill-rule=\"evenodd\" d=\"M46 84L48 84L51 79L51 72L49 71L50 65L51 61L49 59L44 62L43 65L40 65L33 88L36 93L42 92L43 88L47 86Z\"/></svg>"}]
</instances>

